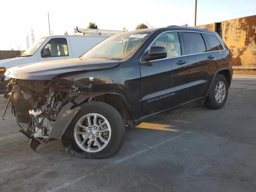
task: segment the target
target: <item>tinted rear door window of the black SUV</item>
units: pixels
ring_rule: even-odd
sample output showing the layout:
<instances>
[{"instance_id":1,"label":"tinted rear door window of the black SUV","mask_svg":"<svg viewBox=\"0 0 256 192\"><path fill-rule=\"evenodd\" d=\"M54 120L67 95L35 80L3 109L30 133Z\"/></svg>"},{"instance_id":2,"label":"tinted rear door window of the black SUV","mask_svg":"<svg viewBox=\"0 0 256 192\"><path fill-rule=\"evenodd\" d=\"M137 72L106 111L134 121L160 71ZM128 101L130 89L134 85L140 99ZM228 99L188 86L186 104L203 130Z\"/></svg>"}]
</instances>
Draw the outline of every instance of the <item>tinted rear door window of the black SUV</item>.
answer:
<instances>
[{"instance_id":1,"label":"tinted rear door window of the black SUV","mask_svg":"<svg viewBox=\"0 0 256 192\"><path fill-rule=\"evenodd\" d=\"M186 54L206 52L206 46L201 33L183 32Z\"/></svg>"}]
</instances>

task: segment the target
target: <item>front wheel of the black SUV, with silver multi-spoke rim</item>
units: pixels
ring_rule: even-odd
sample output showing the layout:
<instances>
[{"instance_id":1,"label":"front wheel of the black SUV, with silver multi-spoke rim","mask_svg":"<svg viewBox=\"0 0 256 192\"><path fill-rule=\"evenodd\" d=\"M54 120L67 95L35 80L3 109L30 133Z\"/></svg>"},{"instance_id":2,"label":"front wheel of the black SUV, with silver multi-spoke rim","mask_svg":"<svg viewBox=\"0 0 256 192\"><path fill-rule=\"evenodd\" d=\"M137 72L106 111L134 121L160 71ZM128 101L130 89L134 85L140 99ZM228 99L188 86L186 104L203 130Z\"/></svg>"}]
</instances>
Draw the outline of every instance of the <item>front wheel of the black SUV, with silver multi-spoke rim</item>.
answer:
<instances>
[{"instance_id":1,"label":"front wheel of the black SUV, with silver multi-spoke rim","mask_svg":"<svg viewBox=\"0 0 256 192\"><path fill-rule=\"evenodd\" d=\"M62 136L64 147L80 158L110 158L124 143L122 116L104 102L92 101L80 106Z\"/></svg>"}]
</instances>

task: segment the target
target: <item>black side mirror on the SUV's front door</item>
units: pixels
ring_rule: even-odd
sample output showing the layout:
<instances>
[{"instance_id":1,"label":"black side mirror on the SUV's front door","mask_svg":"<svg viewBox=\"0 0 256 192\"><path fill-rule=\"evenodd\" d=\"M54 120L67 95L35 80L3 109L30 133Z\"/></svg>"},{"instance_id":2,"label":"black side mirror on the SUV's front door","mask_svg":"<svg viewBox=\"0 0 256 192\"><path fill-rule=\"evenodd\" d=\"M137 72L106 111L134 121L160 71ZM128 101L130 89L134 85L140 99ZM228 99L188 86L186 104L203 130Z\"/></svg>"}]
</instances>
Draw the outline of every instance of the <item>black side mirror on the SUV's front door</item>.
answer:
<instances>
[{"instance_id":1,"label":"black side mirror on the SUV's front door","mask_svg":"<svg viewBox=\"0 0 256 192\"><path fill-rule=\"evenodd\" d=\"M167 57L167 51L162 46L152 46L148 50L148 56L144 57L145 61L151 61L156 59L163 59Z\"/></svg>"}]
</instances>

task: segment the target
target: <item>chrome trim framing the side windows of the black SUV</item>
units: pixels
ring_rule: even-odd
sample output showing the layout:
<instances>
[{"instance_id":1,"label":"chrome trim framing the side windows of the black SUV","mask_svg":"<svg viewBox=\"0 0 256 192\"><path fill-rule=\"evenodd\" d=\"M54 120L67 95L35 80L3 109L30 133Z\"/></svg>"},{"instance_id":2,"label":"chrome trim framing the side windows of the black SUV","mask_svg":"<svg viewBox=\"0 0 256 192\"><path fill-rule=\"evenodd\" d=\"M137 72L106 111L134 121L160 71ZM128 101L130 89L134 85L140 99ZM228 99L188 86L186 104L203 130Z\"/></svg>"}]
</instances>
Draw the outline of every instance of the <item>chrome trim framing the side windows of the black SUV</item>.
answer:
<instances>
[{"instance_id":1,"label":"chrome trim framing the side windows of the black SUV","mask_svg":"<svg viewBox=\"0 0 256 192\"><path fill-rule=\"evenodd\" d=\"M214 34L211 34L211 33L199 32L199 31L184 31L184 30L165 31L165 32L162 32L161 34L159 34L159 35L154 39L154 41L148 46L148 48L147 48L146 51L142 54L142 56L148 51L148 49L150 48L150 46L156 41L156 39L157 39L160 35L162 35L162 34L164 34L164 33L168 33L168 32L193 32L193 33L204 33L204 34L214 35ZM218 38L216 35L214 35L214 36L215 36L215 37L218 39L218 41L220 42L219 38ZM156 60L152 60L152 61L160 61L160 60L166 60L166 59L170 59L170 58L178 58L178 57L184 57L184 56L190 56L190 55L197 55L197 54L203 54L203 53L212 53L212 52L218 52L218 51L225 51L225 50L226 50L225 46L223 46L222 42L220 42L220 44L222 45L222 48L224 48L224 49L222 49L222 50L217 50L217 51L202 52L202 53L185 54L185 55L174 56L174 57L166 57L166 58L163 58L163 59L156 59ZM141 62L142 56L140 57L140 63L141 63L141 64L147 63L147 62Z\"/></svg>"}]
</instances>

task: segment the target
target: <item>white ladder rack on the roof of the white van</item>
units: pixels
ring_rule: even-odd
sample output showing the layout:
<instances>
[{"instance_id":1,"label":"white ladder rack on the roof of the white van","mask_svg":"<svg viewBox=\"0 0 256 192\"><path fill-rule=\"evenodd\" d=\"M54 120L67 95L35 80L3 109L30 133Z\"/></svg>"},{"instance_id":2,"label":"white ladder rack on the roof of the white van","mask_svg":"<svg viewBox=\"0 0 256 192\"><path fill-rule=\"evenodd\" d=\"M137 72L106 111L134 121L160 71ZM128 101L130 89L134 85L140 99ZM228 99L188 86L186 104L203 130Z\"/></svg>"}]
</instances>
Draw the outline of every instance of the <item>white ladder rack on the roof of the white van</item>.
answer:
<instances>
[{"instance_id":1,"label":"white ladder rack on the roof of the white van","mask_svg":"<svg viewBox=\"0 0 256 192\"><path fill-rule=\"evenodd\" d=\"M116 35L119 33L127 32L128 30L107 30L107 29L83 29L74 28L75 33L83 33L83 35Z\"/></svg>"}]
</instances>

